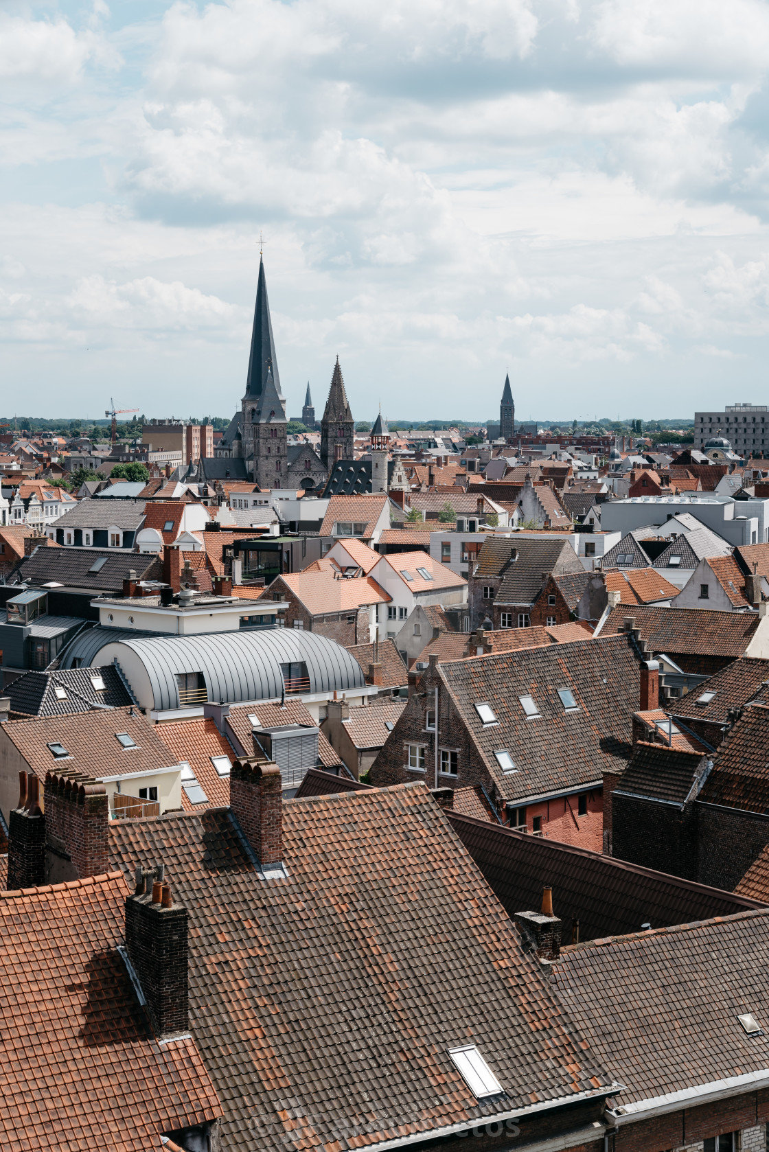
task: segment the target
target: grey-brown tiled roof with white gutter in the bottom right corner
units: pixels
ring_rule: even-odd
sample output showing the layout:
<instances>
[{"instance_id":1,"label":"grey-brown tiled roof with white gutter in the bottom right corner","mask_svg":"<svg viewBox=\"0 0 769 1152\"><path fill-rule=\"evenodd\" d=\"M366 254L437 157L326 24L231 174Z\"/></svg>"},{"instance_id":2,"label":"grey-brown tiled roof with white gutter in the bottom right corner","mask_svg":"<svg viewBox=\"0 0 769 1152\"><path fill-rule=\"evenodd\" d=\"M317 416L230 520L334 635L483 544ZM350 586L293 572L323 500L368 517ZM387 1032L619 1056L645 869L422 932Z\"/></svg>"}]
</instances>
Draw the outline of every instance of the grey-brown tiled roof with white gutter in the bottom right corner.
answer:
<instances>
[{"instance_id":1,"label":"grey-brown tiled roof with white gutter in the bottom right corner","mask_svg":"<svg viewBox=\"0 0 769 1152\"><path fill-rule=\"evenodd\" d=\"M553 992L625 1091L616 1104L766 1069L769 911L739 912L570 948Z\"/></svg>"}]
</instances>

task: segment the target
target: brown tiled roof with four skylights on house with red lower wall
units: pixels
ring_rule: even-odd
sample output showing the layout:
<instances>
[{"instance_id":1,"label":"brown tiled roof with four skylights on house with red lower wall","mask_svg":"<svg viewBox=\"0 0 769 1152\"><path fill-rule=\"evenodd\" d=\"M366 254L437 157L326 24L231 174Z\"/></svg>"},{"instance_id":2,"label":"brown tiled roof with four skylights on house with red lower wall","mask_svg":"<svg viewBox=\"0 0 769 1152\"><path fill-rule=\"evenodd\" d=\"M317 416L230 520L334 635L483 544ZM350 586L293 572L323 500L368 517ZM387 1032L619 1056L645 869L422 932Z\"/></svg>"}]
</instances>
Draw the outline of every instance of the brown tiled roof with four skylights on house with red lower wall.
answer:
<instances>
[{"instance_id":1,"label":"brown tiled roof with four skylights on house with red lower wall","mask_svg":"<svg viewBox=\"0 0 769 1152\"><path fill-rule=\"evenodd\" d=\"M574 641L458 660L438 666L499 794L521 803L560 794L621 772L631 757L631 715L638 708L639 664L625 637ZM558 689L574 692L566 711ZM519 696L531 695L540 718L527 719ZM475 704L498 723L484 727ZM398 729L393 733L397 735ZM503 773L495 750L518 768Z\"/></svg>"}]
</instances>

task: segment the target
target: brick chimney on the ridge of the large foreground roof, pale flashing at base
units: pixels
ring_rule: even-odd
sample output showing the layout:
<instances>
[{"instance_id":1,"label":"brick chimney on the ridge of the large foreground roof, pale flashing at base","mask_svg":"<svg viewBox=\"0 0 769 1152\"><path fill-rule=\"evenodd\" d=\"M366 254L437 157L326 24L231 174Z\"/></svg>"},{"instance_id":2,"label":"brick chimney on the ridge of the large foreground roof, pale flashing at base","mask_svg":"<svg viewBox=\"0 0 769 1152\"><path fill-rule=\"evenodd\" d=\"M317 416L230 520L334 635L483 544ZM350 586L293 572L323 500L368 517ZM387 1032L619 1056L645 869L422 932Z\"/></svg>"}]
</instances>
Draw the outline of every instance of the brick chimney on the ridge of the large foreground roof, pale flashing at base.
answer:
<instances>
[{"instance_id":1,"label":"brick chimney on the ridge of the large foreground roof, pale flashing at base","mask_svg":"<svg viewBox=\"0 0 769 1152\"><path fill-rule=\"evenodd\" d=\"M229 805L262 867L282 861L282 796L277 764L235 760L229 775Z\"/></svg>"}]
</instances>

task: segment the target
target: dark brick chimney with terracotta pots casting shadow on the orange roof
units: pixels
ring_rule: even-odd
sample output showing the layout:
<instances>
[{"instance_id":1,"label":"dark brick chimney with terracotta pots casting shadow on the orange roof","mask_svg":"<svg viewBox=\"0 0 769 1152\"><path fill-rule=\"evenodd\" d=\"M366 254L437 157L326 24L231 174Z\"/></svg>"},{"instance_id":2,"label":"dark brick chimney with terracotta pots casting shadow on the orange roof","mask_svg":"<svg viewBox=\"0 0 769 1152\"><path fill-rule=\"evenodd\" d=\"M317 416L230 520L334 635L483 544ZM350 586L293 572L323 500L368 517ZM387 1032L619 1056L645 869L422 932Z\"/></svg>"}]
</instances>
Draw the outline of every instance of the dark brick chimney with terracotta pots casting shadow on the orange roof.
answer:
<instances>
[{"instance_id":1,"label":"dark brick chimney with terracotta pots casting shadow on the orange roof","mask_svg":"<svg viewBox=\"0 0 769 1152\"><path fill-rule=\"evenodd\" d=\"M126 950L159 1038L189 1028L187 940L187 909L157 873L138 867L136 892L126 899Z\"/></svg>"}]
</instances>

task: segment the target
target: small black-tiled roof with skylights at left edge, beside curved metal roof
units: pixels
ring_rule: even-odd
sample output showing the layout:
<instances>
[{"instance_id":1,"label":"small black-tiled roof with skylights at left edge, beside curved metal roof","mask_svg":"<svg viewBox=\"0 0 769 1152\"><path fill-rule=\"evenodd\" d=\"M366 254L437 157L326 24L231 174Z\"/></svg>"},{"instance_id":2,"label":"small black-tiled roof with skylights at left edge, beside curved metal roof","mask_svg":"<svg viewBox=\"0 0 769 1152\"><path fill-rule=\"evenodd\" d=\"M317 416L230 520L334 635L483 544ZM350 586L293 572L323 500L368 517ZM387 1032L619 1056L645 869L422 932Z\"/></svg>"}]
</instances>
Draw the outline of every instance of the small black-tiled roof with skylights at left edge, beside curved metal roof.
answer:
<instances>
[{"instance_id":1,"label":"small black-tiled roof with skylights at left edge, beside curved metal roof","mask_svg":"<svg viewBox=\"0 0 769 1152\"><path fill-rule=\"evenodd\" d=\"M93 688L93 676L101 676L104 691ZM59 699L56 688L66 691L66 699ZM103 668L70 668L68 672L28 672L14 680L3 690L3 695L10 697L12 712L36 717L88 712L91 704L120 708L134 703L118 669L112 665Z\"/></svg>"}]
</instances>

